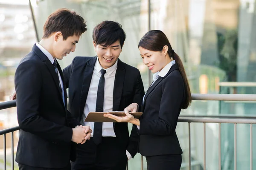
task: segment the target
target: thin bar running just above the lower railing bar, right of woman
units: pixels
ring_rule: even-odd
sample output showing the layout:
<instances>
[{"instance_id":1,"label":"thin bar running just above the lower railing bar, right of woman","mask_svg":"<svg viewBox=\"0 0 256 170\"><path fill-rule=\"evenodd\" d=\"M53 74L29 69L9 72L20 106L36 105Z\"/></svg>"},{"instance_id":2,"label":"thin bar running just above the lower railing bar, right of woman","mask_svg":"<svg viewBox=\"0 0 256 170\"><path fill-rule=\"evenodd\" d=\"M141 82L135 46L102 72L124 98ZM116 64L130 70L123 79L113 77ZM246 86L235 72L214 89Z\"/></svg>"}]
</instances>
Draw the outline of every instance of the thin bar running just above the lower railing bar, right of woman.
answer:
<instances>
[{"instance_id":1,"label":"thin bar running just above the lower railing bar, right of woman","mask_svg":"<svg viewBox=\"0 0 256 170\"><path fill-rule=\"evenodd\" d=\"M256 115L256 114L255 114ZM228 114L220 114L220 115L180 115L179 117L192 117L192 118L228 118L228 119L256 119L256 116L230 116Z\"/></svg>"}]
</instances>

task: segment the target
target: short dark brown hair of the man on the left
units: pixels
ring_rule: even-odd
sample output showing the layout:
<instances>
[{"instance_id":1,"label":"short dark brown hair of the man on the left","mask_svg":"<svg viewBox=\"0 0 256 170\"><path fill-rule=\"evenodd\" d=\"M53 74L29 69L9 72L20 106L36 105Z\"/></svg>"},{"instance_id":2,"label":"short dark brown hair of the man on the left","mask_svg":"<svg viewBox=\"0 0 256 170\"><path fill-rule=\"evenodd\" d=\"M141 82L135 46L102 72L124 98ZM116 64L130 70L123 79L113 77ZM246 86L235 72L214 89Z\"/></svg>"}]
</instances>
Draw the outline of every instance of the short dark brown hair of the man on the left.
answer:
<instances>
[{"instance_id":1,"label":"short dark brown hair of the man on the left","mask_svg":"<svg viewBox=\"0 0 256 170\"><path fill-rule=\"evenodd\" d=\"M50 14L45 22L43 38L48 38L58 31L61 31L63 40L73 35L81 36L87 30L85 23L84 18L75 11L67 8L58 9Z\"/></svg>"}]
</instances>

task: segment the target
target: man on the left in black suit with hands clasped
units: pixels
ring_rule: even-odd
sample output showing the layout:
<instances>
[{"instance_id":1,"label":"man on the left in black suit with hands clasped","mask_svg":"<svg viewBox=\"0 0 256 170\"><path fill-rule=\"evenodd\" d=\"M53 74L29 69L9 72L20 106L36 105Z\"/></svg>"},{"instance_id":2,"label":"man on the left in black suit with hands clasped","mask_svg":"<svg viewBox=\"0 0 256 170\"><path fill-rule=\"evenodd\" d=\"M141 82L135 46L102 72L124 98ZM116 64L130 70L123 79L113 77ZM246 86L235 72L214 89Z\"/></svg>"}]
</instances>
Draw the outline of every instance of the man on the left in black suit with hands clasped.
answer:
<instances>
[{"instance_id":1,"label":"man on the left in black suit with hands clasped","mask_svg":"<svg viewBox=\"0 0 256 170\"><path fill-rule=\"evenodd\" d=\"M82 126L67 111L64 77L56 60L75 51L86 29L76 12L55 11L44 25L42 40L17 67L15 89L21 130L16 161L20 170L70 170L70 160L75 160L72 142L90 139L90 127Z\"/></svg>"}]
</instances>

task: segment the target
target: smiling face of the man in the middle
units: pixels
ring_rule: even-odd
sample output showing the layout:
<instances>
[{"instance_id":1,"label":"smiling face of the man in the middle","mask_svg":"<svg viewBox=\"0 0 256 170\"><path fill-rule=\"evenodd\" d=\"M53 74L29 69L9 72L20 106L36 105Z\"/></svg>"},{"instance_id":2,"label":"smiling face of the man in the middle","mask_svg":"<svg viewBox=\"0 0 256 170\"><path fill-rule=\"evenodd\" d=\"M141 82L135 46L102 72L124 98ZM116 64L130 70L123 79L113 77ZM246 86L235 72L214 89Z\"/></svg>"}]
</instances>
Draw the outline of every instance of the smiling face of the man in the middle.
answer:
<instances>
[{"instance_id":1,"label":"smiling face of the man in the middle","mask_svg":"<svg viewBox=\"0 0 256 170\"><path fill-rule=\"evenodd\" d=\"M105 69L110 68L112 65L114 65L120 53L122 52L122 48L119 40L117 40L116 42L114 42L109 46L104 46L102 44L95 44L94 42L93 42L93 45L97 53L97 56L99 58L99 63L102 66L102 68L105 68Z\"/></svg>"}]
</instances>

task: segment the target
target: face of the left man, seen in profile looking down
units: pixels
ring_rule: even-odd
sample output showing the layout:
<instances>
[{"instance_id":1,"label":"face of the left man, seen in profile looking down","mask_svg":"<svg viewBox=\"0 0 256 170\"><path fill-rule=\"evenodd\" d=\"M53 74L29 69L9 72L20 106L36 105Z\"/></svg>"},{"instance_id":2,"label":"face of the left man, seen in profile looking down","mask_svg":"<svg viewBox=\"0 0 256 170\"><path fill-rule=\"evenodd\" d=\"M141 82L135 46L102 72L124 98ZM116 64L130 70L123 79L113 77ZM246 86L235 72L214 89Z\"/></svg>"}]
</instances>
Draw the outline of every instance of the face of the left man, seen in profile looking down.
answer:
<instances>
[{"instance_id":1,"label":"face of the left man, seen in profile looking down","mask_svg":"<svg viewBox=\"0 0 256 170\"><path fill-rule=\"evenodd\" d=\"M79 36L73 35L67 37L66 40L63 40L62 34L55 34L55 43L53 46L53 54L54 57L57 59L63 59L64 56L70 54L71 52L75 52L76 50L76 43L79 42Z\"/></svg>"}]
</instances>

